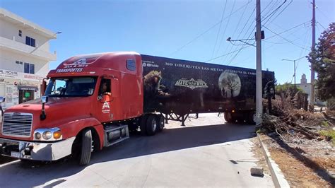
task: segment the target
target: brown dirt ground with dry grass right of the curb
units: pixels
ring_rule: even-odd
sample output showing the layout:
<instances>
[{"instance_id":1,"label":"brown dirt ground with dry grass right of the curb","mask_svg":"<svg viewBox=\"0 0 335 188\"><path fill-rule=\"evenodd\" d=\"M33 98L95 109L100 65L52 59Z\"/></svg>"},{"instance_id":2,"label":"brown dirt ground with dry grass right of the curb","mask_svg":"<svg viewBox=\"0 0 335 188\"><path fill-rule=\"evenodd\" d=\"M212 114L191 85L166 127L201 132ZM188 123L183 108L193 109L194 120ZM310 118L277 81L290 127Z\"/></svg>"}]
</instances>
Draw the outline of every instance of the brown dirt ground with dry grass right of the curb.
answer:
<instances>
[{"instance_id":1,"label":"brown dirt ground with dry grass right of the curb","mask_svg":"<svg viewBox=\"0 0 335 188\"><path fill-rule=\"evenodd\" d=\"M261 135L271 158L279 165L291 187L335 186L335 148L331 142L283 139L285 141L274 134Z\"/></svg>"}]
</instances>

